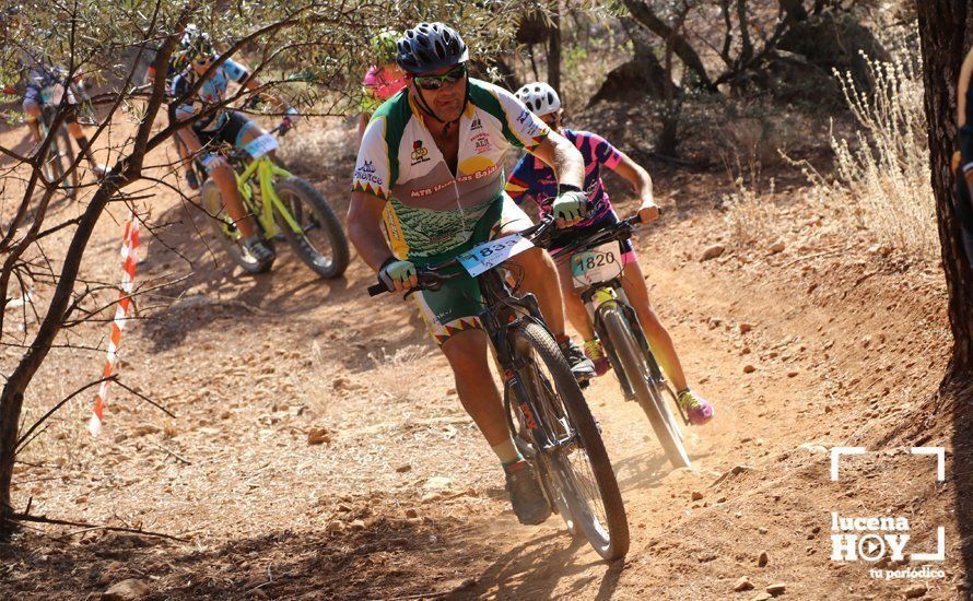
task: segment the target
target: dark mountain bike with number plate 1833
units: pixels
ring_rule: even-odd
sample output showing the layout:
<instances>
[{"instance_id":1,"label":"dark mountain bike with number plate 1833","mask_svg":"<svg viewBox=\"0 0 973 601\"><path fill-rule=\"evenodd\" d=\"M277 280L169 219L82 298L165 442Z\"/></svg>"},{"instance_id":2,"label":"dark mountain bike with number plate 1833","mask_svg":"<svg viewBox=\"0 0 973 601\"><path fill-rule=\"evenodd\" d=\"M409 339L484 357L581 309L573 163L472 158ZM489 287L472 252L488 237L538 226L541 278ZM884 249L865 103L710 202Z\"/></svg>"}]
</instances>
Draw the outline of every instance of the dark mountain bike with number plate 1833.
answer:
<instances>
[{"instance_id":1,"label":"dark mountain bike with number plate 1833","mask_svg":"<svg viewBox=\"0 0 973 601\"><path fill-rule=\"evenodd\" d=\"M581 532L599 555L612 561L629 551L629 521L600 428L536 297L517 296L516 274L503 267L552 229L553 222L544 221L420 269L419 286L406 296L438 290L462 270L477 279L484 299L478 317L503 375L503 405L517 448L572 534ZM372 296L386 292L382 283L368 288Z\"/></svg>"}]
</instances>

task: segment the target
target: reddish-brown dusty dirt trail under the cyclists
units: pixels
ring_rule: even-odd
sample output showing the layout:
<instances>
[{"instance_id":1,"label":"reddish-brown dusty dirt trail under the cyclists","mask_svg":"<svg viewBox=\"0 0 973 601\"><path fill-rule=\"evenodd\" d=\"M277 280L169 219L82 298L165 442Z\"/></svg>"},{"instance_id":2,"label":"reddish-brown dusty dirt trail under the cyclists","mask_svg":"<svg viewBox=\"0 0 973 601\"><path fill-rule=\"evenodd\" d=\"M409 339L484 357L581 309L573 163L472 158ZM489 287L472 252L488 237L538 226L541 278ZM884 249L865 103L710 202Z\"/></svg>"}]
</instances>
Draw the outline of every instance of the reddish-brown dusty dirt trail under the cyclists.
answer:
<instances>
[{"instance_id":1,"label":"reddish-brown dusty dirt trail under the cyclists","mask_svg":"<svg viewBox=\"0 0 973 601\"><path fill-rule=\"evenodd\" d=\"M665 193L677 179L663 175L656 186ZM342 214L344 184L317 182ZM693 468L671 471L614 378L589 388L629 511L624 562L601 562L556 516L517 525L445 360L410 307L368 299L373 276L359 260L345 279L323 282L283 250L269 276L242 276L196 233L201 214L160 191L153 220L172 225L146 245L139 276L181 280L155 296L167 308L126 332L121 377L178 417L116 390L106 433L92 440L89 401L73 403L32 451L39 467L19 468L15 498L20 507L33 498L35 512L188 542L31 535L30 545L2 549L0 590L82 597L134 577L160 599L750 599L775 581L795 599L901 591L908 582L828 561L829 512L845 493L828 483L821 446L861 439L934 390L948 338L925 316L942 311L941 278L869 252L861 236L819 235L818 215L800 201L772 209L789 227L778 232L784 252L770 252L767 240L700 262L708 243L728 244L726 226L691 200L706 180L679 185L680 210L644 228L637 247L656 308L716 420L692 431ZM632 209L631 199L620 203ZM117 270L119 235L103 220L87 274ZM802 240L819 246L801 250ZM78 335L96 342L102 329ZM55 352L27 400L34 415L94 377L101 361L99 352ZM308 444L318 428L326 441ZM771 561L758 568L761 551ZM734 592L741 576L755 590ZM952 582L930 582L928 596L954 594Z\"/></svg>"}]
</instances>

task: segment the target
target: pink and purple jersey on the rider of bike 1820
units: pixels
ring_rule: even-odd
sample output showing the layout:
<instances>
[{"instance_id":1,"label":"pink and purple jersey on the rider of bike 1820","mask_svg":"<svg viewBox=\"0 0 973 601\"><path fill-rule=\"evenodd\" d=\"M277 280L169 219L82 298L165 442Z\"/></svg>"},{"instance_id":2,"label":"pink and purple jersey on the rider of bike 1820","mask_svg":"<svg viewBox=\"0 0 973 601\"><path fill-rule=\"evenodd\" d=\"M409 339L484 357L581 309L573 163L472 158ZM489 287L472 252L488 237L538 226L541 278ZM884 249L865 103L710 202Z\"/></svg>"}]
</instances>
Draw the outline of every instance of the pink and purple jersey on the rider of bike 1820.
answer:
<instances>
[{"instance_id":1,"label":"pink and purple jersey on the rider of bike 1820","mask_svg":"<svg viewBox=\"0 0 973 601\"><path fill-rule=\"evenodd\" d=\"M621 161L619 151L608 140L589 131L561 132L577 146L585 157L585 191L588 195L588 212L584 221L575 227L585 227L613 215L611 200L601 182L601 165L614 169ZM551 203L558 197L558 178L554 169L532 154L525 154L506 185L506 191L517 204L530 198L540 209L541 215L551 212Z\"/></svg>"}]
</instances>

